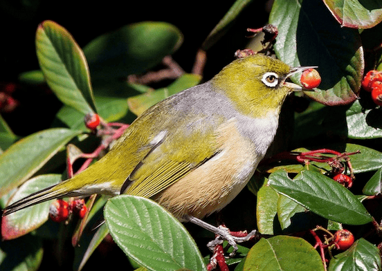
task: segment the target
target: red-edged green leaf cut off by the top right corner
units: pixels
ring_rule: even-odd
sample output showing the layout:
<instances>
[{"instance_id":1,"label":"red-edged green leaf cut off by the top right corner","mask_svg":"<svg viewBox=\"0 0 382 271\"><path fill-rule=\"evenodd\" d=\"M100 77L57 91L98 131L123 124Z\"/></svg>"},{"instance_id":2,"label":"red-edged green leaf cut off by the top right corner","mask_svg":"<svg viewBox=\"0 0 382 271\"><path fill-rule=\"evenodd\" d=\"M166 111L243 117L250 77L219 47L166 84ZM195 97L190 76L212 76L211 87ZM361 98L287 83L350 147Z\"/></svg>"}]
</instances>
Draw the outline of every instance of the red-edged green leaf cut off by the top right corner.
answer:
<instances>
[{"instance_id":1,"label":"red-edged green leaf cut off by the top right corner","mask_svg":"<svg viewBox=\"0 0 382 271\"><path fill-rule=\"evenodd\" d=\"M382 21L382 1L323 0L341 26L372 28Z\"/></svg>"}]
</instances>

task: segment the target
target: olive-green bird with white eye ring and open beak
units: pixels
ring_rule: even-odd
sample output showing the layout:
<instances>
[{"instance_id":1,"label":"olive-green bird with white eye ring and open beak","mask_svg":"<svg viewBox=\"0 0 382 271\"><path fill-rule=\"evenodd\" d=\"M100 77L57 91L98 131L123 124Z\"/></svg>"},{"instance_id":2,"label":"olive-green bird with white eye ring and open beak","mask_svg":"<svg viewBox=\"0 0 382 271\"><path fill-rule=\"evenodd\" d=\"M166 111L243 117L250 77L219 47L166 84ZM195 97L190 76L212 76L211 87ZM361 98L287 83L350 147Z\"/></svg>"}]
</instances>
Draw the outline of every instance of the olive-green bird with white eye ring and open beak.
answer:
<instances>
[{"instance_id":1,"label":"olive-green bird with white eye ring and open beak","mask_svg":"<svg viewBox=\"0 0 382 271\"><path fill-rule=\"evenodd\" d=\"M307 68L264 55L236 59L210 81L147 109L94 165L12 203L3 216L91 194L152 198L182 222L217 212L264 158L286 96L304 90L285 80Z\"/></svg>"}]
</instances>

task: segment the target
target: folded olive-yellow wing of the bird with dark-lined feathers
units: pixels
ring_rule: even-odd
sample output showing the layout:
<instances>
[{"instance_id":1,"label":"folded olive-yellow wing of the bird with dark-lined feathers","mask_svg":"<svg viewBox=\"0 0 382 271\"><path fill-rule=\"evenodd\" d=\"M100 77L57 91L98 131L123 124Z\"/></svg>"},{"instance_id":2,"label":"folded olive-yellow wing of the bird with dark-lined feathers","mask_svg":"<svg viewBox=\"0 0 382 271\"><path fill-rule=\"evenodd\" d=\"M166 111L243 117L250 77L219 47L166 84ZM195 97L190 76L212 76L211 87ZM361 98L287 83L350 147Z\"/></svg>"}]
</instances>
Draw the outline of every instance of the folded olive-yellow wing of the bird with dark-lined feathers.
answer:
<instances>
[{"instance_id":1,"label":"folded olive-yellow wing of the bird with dark-lined feathers","mask_svg":"<svg viewBox=\"0 0 382 271\"><path fill-rule=\"evenodd\" d=\"M188 115L186 119L174 120L158 132L152 147L125 180L121 193L150 198L219 153L215 131L223 122L221 118Z\"/></svg>"}]
</instances>

